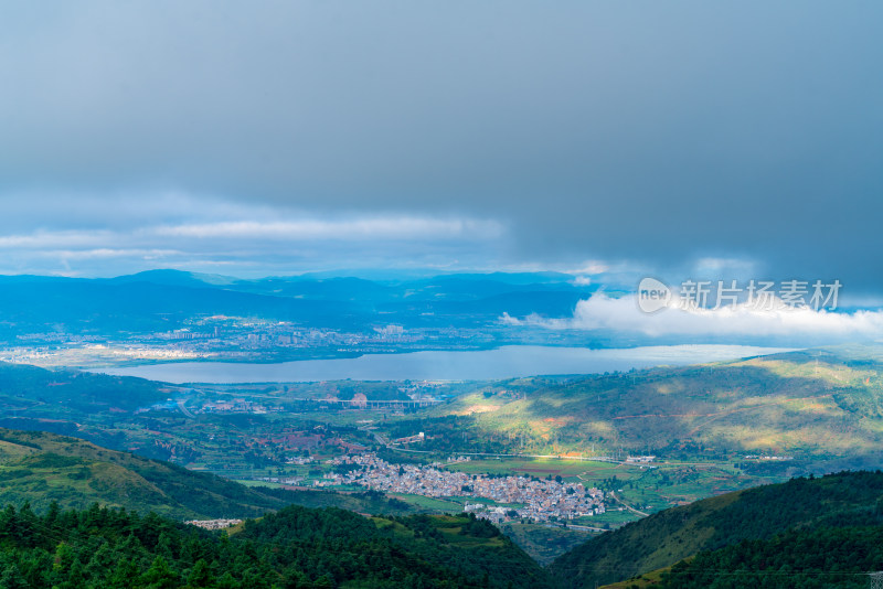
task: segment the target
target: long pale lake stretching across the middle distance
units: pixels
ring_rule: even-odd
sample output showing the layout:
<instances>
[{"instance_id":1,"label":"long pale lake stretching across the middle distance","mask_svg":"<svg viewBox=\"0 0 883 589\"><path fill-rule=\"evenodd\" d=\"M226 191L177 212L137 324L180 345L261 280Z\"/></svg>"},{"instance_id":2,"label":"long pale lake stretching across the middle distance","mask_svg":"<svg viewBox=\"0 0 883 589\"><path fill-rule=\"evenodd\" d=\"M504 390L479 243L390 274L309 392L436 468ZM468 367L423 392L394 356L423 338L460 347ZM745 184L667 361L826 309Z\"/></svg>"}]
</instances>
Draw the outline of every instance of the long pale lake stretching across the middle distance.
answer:
<instances>
[{"instance_id":1,"label":"long pale lake stretching across the middle distance","mask_svg":"<svg viewBox=\"0 0 883 589\"><path fill-rule=\"evenodd\" d=\"M593 374L651 366L680 366L788 352L747 345L656 345L591 350L508 345L464 352L366 354L354 358L301 360L277 364L181 362L92 372L140 376L166 383L297 383L316 381L493 381L552 374Z\"/></svg>"}]
</instances>

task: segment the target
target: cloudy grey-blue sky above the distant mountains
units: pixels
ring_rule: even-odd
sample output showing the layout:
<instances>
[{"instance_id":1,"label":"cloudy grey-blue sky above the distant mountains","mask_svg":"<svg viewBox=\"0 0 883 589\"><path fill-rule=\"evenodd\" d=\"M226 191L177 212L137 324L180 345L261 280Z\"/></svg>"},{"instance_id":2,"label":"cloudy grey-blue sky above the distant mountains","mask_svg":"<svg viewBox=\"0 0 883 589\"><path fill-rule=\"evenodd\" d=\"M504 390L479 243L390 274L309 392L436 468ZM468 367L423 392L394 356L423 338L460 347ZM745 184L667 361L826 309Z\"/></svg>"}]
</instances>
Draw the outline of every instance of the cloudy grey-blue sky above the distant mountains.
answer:
<instances>
[{"instance_id":1,"label":"cloudy grey-blue sky above the distant mountains","mask_svg":"<svg viewBox=\"0 0 883 589\"><path fill-rule=\"evenodd\" d=\"M3 2L0 272L630 271L879 302L881 22L876 1Z\"/></svg>"}]
</instances>

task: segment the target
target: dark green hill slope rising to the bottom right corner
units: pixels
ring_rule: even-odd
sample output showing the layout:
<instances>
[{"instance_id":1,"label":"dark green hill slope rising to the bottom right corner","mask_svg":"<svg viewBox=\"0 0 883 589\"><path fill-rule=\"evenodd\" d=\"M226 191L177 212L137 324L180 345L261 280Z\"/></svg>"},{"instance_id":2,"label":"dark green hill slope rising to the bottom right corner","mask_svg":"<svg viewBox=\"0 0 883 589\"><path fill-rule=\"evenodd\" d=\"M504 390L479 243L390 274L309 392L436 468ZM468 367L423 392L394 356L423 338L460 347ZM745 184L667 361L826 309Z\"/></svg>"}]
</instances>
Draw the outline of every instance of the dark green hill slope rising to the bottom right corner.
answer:
<instances>
[{"instance_id":1,"label":"dark green hill slope rising to the bottom right corner","mask_svg":"<svg viewBox=\"0 0 883 589\"><path fill-rule=\"evenodd\" d=\"M550 571L565 587L595 587L745 539L868 525L883 525L883 473L799 478L656 513L574 548Z\"/></svg>"}]
</instances>

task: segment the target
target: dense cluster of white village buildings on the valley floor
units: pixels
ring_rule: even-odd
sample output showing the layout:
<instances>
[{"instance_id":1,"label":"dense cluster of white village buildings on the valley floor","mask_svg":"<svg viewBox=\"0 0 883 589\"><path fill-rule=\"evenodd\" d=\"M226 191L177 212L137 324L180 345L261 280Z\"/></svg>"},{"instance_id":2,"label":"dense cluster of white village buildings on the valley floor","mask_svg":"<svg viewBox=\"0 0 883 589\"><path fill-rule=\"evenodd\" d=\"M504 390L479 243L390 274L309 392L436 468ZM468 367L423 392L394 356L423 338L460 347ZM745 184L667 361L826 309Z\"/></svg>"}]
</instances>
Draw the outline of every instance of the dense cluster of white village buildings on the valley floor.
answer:
<instances>
[{"instance_id":1,"label":"dense cluster of white village buildings on the valley floor","mask_svg":"<svg viewBox=\"0 0 883 589\"><path fill-rule=\"evenodd\" d=\"M500 511L501 517L523 517L536 522L572 520L605 511L604 493L598 489L586 489L582 483L523 475L468 474L444 469L439 463L428 467L392 464L373 453L343 456L330 462L357 468L345 473L326 474L322 481L316 482L318 486L350 484L430 497L483 497L509 505ZM492 510L474 511L489 518L496 513Z\"/></svg>"}]
</instances>

